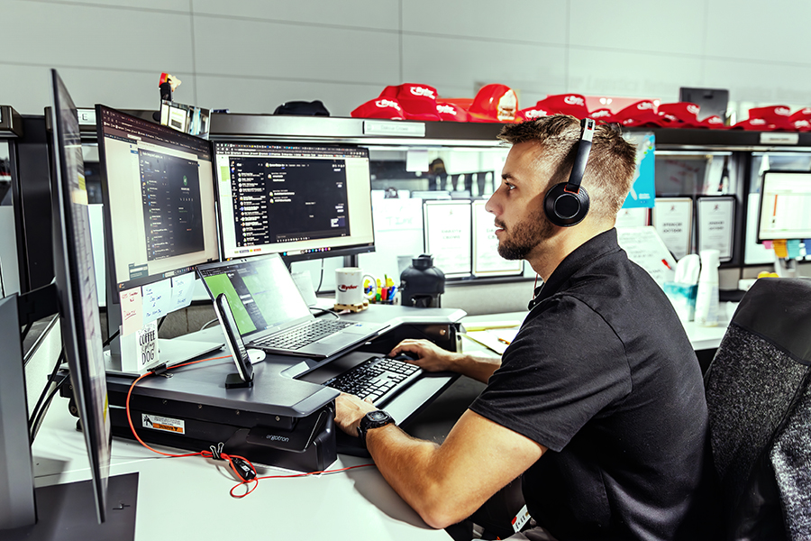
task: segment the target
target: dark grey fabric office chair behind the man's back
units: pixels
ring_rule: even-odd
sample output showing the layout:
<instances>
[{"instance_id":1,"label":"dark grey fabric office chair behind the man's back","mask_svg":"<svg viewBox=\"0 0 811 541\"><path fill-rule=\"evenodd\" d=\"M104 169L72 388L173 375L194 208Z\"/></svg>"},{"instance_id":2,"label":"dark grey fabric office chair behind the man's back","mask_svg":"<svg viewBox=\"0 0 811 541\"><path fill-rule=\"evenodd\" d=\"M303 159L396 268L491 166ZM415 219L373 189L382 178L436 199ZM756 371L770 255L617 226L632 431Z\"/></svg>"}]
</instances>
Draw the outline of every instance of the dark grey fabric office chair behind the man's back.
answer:
<instances>
[{"instance_id":1,"label":"dark grey fabric office chair behind the man's back","mask_svg":"<svg viewBox=\"0 0 811 541\"><path fill-rule=\"evenodd\" d=\"M811 539L811 280L744 295L705 376L725 538Z\"/></svg>"}]
</instances>

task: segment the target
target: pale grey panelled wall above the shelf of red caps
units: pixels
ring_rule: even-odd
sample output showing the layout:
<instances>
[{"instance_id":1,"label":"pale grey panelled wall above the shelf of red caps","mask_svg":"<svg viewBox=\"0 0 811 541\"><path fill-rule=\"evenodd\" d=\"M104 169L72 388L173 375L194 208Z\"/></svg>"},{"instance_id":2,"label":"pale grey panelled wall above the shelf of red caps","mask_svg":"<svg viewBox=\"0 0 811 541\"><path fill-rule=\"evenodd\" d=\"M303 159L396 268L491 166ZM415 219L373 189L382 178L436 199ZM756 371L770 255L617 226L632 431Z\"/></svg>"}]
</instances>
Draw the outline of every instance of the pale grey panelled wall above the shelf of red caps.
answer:
<instances>
[{"instance_id":1,"label":"pale grey panelled wall above the shelf of red caps","mask_svg":"<svg viewBox=\"0 0 811 541\"><path fill-rule=\"evenodd\" d=\"M321 99L347 116L391 84L472 97L481 84L547 94L678 98L729 88L734 106L811 105L811 59L788 0L0 0L0 103L48 105L59 69L77 105L182 103L267 113Z\"/></svg>"}]
</instances>

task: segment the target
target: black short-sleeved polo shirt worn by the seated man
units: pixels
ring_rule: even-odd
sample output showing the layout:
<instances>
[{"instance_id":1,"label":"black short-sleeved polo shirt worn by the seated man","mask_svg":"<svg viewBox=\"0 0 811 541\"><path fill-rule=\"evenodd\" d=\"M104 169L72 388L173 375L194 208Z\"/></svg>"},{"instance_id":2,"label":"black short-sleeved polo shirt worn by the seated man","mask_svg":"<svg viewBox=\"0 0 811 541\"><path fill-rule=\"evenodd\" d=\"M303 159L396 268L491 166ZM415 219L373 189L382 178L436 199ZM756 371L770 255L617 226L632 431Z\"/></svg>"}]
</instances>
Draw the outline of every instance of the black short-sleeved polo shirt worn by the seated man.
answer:
<instances>
[{"instance_id":1,"label":"black short-sleeved polo shirt worn by the seated man","mask_svg":"<svg viewBox=\"0 0 811 541\"><path fill-rule=\"evenodd\" d=\"M612 229L531 306L470 408L549 448L523 476L533 518L560 541L710 538L704 385L661 288Z\"/></svg>"}]
</instances>

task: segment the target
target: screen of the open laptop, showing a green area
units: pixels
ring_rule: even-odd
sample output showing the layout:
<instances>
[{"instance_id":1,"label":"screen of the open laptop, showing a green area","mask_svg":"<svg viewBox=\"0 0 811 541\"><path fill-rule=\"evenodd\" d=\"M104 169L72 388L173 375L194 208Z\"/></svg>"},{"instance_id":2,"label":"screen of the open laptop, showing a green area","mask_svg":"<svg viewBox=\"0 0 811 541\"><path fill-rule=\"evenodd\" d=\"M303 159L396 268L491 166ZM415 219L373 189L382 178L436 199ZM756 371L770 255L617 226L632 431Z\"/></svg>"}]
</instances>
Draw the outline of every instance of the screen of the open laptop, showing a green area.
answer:
<instances>
[{"instance_id":1,"label":"screen of the open laptop, showing a green area","mask_svg":"<svg viewBox=\"0 0 811 541\"><path fill-rule=\"evenodd\" d=\"M312 318L276 253L198 267L212 298L224 293L240 335L276 331Z\"/></svg>"}]
</instances>

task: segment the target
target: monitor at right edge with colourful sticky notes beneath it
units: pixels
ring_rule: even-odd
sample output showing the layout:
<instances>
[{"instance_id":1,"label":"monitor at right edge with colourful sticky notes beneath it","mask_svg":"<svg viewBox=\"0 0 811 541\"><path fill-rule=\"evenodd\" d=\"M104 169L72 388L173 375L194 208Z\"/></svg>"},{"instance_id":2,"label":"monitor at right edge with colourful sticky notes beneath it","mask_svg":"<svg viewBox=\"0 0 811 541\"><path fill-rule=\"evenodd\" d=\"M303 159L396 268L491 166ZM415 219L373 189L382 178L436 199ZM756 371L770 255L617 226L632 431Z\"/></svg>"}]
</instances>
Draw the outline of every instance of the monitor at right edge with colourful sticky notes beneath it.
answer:
<instances>
[{"instance_id":1,"label":"monitor at right edge with colourful sticky notes beneath it","mask_svg":"<svg viewBox=\"0 0 811 541\"><path fill-rule=\"evenodd\" d=\"M763 173L758 243L783 239L811 239L811 171Z\"/></svg>"}]
</instances>

